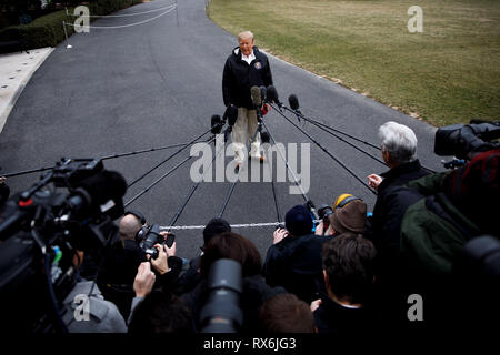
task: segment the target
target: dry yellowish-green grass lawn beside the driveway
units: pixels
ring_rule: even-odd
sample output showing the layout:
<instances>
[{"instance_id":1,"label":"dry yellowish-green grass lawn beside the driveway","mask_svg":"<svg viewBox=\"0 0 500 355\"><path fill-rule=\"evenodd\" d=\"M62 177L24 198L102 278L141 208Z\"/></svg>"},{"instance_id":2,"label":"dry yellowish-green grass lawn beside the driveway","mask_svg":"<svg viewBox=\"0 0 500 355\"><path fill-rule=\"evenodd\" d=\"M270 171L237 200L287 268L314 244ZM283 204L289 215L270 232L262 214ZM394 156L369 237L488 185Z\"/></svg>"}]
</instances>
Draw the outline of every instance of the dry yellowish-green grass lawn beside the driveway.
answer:
<instances>
[{"instance_id":1,"label":"dry yellowish-green grass lawn beside the driveway","mask_svg":"<svg viewBox=\"0 0 500 355\"><path fill-rule=\"evenodd\" d=\"M423 32L410 33L410 6ZM500 120L498 0L212 0L231 33L434 125ZM278 88L279 89L279 88Z\"/></svg>"}]
</instances>

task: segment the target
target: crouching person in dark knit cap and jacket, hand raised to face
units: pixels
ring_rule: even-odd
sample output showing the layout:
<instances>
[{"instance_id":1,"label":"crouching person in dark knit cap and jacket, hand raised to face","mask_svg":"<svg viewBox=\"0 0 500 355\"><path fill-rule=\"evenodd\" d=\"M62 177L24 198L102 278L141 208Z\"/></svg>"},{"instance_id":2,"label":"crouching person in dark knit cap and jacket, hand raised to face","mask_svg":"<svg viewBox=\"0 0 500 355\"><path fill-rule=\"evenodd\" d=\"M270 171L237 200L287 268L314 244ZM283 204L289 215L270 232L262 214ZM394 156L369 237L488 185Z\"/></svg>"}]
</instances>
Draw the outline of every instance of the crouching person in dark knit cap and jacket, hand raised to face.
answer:
<instances>
[{"instance_id":1,"label":"crouching person in dark knit cap and jacket, hand raised to face","mask_svg":"<svg viewBox=\"0 0 500 355\"><path fill-rule=\"evenodd\" d=\"M284 216L286 229L276 230L263 265L266 282L282 286L310 303L323 287L321 247L331 236L312 233L308 209L296 205Z\"/></svg>"}]
</instances>

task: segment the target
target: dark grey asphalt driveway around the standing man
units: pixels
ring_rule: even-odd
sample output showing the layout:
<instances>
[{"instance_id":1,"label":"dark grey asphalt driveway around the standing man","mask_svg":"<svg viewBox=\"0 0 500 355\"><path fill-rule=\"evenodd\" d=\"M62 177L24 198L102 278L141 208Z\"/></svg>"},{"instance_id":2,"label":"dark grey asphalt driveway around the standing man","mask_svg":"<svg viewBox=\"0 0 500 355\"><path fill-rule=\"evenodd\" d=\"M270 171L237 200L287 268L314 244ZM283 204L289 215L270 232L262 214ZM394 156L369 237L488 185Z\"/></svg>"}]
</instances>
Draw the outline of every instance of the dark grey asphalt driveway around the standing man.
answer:
<instances>
[{"instance_id":1,"label":"dark grey asphalt driveway around the standing man","mask_svg":"<svg viewBox=\"0 0 500 355\"><path fill-rule=\"evenodd\" d=\"M170 0L157 0L119 13L148 11L169 3ZM108 18L92 24L120 26L151 17ZM259 39L256 40L258 45ZM203 0L179 1L179 27L171 12L136 27L91 29L90 33L72 36L70 43L72 49L67 49L64 42L56 48L12 110L0 134L2 173L50 166L61 156L97 158L188 142L209 129L212 114L223 113L222 69L237 39L206 17ZM288 95L296 93L303 114L377 145L380 124L390 120L407 124L419 139L422 163L442 170L441 158L432 152L436 129L273 57L270 61L281 101L287 102ZM276 112L266 116L266 123L279 142L309 141ZM361 179L387 170L311 124L304 129ZM377 150L362 148L380 155ZM174 151L108 160L104 165L131 182ZM124 201L188 154L186 150L134 184ZM372 209L376 196L312 143L310 164L309 196L317 206L332 203L340 193L352 193ZM187 163L180 168L130 207L142 211L149 222L167 225L193 184L190 166ZM38 175L12 178L9 184L14 192L24 190L38 181ZM303 203L301 195L288 193L290 185L276 183L282 215L292 205ZM229 182L202 183L177 225L207 223L219 213L229 189ZM271 184L239 183L223 216L231 224L276 222ZM262 258L271 244L272 231L236 230L256 243ZM176 234L180 256L199 253L201 231Z\"/></svg>"}]
</instances>

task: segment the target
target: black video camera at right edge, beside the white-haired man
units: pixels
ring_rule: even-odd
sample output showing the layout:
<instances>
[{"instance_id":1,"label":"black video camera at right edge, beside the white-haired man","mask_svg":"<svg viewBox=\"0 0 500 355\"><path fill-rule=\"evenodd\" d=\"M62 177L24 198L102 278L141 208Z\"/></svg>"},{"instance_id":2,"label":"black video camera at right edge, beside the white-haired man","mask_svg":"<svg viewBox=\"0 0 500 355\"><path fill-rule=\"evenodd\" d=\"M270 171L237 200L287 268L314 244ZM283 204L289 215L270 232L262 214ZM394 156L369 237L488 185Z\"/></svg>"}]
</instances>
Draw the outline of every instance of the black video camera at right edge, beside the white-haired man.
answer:
<instances>
[{"instance_id":1,"label":"black video camera at right edge, beside the white-haired man","mask_svg":"<svg viewBox=\"0 0 500 355\"><path fill-rule=\"evenodd\" d=\"M470 153L484 152L500 146L491 142L500 138L500 122L471 120L470 124L453 124L436 132L434 153L470 159Z\"/></svg>"}]
</instances>

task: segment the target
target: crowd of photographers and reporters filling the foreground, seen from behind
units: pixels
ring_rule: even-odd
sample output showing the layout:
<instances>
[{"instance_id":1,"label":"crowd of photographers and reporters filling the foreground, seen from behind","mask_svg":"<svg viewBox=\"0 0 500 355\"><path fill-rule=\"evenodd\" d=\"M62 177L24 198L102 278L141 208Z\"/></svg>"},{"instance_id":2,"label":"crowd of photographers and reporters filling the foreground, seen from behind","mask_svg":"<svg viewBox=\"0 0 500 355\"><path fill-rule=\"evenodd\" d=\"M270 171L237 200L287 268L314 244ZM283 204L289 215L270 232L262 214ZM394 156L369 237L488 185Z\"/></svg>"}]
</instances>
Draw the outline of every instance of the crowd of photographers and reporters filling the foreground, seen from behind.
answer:
<instances>
[{"instance_id":1,"label":"crowd of photographers and reporters filling the foreground, seen from behind","mask_svg":"<svg viewBox=\"0 0 500 355\"><path fill-rule=\"evenodd\" d=\"M483 324L498 311L500 149L476 148L463 166L430 173L411 129L388 122L379 138L390 169L368 176L372 214L351 194L322 206L319 221L296 205L264 257L213 219L188 261L171 233L126 212L106 247L74 253L78 282L54 306L60 322L90 333L337 335L411 329L416 320L429 329ZM412 307L413 296L423 304Z\"/></svg>"}]
</instances>

